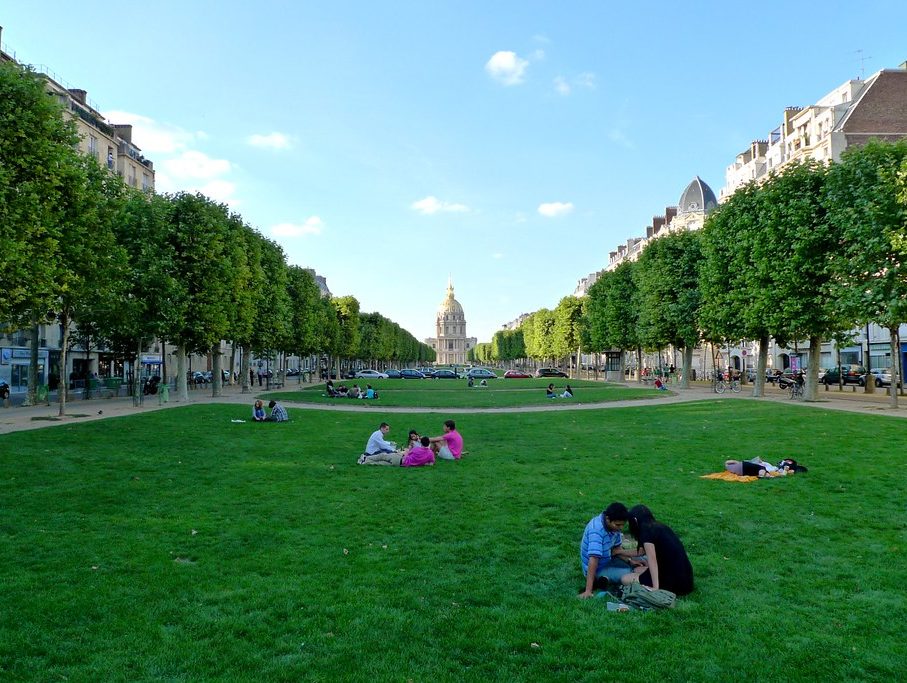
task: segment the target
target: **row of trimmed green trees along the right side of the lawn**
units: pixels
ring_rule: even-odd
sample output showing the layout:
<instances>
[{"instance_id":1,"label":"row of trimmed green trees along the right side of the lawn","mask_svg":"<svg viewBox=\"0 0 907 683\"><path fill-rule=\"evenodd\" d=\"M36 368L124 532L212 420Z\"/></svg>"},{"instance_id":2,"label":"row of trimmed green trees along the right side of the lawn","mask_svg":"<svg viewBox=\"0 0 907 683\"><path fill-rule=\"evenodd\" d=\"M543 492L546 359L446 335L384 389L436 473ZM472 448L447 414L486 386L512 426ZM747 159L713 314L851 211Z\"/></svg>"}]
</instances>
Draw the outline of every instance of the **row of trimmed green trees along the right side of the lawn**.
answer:
<instances>
[{"instance_id":1,"label":"row of trimmed green trees along the right side of the lawn","mask_svg":"<svg viewBox=\"0 0 907 683\"><path fill-rule=\"evenodd\" d=\"M876 323L891 339L907 322L907 141L871 141L839 163L793 164L750 183L698 232L648 244L636 262L603 273L583 300L565 297L521 328L498 332L483 362L564 358L585 349L682 351L759 342L754 393L764 391L768 342L809 342L807 398L815 399L820 348ZM623 354L622 354L623 355ZM901 375L902 376L902 375ZM688 384L685 384L688 386ZM890 391L897 405L896 382Z\"/></svg>"}]
</instances>

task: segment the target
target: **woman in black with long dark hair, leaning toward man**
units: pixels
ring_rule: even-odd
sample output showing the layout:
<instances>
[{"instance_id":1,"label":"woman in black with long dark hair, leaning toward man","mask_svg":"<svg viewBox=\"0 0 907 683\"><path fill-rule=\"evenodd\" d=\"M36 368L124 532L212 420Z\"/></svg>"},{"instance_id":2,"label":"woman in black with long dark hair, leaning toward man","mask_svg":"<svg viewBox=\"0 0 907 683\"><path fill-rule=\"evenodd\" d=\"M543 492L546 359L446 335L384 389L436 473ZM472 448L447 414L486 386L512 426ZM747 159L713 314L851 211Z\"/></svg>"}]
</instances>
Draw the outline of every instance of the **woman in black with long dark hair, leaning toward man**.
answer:
<instances>
[{"instance_id":1,"label":"woman in black with long dark hair, leaning toward man","mask_svg":"<svg viewBox=\"0 0 907 683\"><path fill-rule=\"evenodd\" d=\"M621 578L621 583L639 581L649 588L663 588L676 595L693 592L693 565L677 534L667 524L655 521L645 505L629 512L630 535L639 544L637 552L646 557L646 566Z\"/></svg>"}]
</instances>

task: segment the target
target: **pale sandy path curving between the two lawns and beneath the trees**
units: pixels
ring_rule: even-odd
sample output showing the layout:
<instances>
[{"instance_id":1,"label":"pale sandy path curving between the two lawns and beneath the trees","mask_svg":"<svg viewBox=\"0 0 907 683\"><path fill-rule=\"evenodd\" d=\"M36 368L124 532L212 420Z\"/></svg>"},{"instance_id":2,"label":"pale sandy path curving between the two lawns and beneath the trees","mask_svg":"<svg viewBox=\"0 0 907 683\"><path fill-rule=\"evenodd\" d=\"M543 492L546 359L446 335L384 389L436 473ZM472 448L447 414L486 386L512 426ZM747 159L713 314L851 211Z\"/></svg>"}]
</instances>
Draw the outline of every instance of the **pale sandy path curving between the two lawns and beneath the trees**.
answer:
<instances>
[{"instance_id":1,"label":"pale sandy path curving between the two lawns and beneath the trees","mask_svg":"<svg viewBox=\"0 0 907 683\"><path fill-rule=\"evenodd\" d=\"M319 383L320 384L320 383ZM290 384L283 391L293 391L300 387L311 386L305 384ZM243 394L238 386L224 387L224 394L219 398L211 396L210 387L196 389L189 392L189 401L181 403L175 400L175 395L170 394L171 401L161 404L157 396L146 396L144 404L138 407L133 406L131 398L92 398L82 399L74 398L67 403L68 417L55 419L58 413L56 404L38 405L31 407L9 407L0 408L0 435L10 432L21 431L26 429L38 429L63 423L86 422L90 420L100 420L119 415L135 415L136 413L149 412L152 410L162 410L177 408L183 405L192 405L198 403L236 403L249 406L251 410L252 401L257 393L264 391L254 387L252 393ZM787 394L778 390L776 387L766 387L766 396L761 399L754 399L751 395L752 388L745 387L739 394L725 393L721 396L716 395L711 390L711 385L707 383L695 383L691 389L676 390L669 392L667 395L660 395L653 400L637 399L630 401L609 401L607 403L571 403L557 402L546 403L543 406L525 406L514 408L405 408L405 407L381 407L384 413L445 413L449 415L463 413L510 413L510 412L548 412L548 411L565 411L565 410L602 410L610 408L636 407L644 408L649 406L659 406L674 403L689 403L691 401L771 401L790 406L805 406L809 408L821 408L827 410L842 410L854 413L863 413L868 415L884 415L886 417L907 418L907 397L900 397L898 408L890 408L888 405L887 393L877 390L875 394L864 394L862 389L853 392L849 388L841 392L836 389L825 391L820 388L819 400L815 402L793 402L787 398ZM653 397L655 396L653 389ZM363 406L355 402L337 403L325 406L323 404L311 403L293 403L291 407L296 410L336 410L336 411L354 411L362 410ZM374 412L379 406L370 404L369 408ZM78 417L76 417L78 416Z\"/></svg>"}]
</instances>

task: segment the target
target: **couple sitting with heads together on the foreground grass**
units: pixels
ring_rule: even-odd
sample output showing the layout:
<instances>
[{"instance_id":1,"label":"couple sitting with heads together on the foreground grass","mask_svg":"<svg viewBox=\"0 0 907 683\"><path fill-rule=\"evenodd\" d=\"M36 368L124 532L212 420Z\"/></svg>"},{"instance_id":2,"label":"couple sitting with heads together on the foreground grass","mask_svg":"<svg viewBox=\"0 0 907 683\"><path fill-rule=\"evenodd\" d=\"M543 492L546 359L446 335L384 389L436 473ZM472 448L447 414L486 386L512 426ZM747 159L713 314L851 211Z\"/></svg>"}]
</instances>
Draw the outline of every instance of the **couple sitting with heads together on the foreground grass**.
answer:
<instances>
[{"instance_id":1,"label":"couple sitting with heads together on the foreground grass","mask_svg":"<svg viewBox=\"0 0 907 683\"><path fill-rule=\"evenodd\" d=\"M623 547L625 525L636 539L635 550ZM609 584L636 581L676 595L693 591L693 566L683 543L645 505L627 510L623 503L611 503L586 525L579 552L586 576L580 598L591 598L593 589L607 590Z\"/></svg>"}]
</instances>

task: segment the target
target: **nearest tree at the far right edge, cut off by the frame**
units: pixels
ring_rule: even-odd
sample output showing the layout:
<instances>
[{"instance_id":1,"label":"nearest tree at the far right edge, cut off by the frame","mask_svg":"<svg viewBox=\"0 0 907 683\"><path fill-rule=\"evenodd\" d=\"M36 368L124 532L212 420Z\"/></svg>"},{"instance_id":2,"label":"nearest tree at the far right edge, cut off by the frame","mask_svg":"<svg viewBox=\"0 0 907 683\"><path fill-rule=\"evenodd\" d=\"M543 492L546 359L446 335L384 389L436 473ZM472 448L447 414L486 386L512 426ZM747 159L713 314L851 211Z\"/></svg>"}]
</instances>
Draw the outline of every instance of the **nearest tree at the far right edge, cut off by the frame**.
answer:
<instances>
[{"instance_id":1,"label":"nearest tree at the far right edge, cut off by the frame","mask_svg":"<svg viewBox=\"0 0 907 683\"><path fill-rule=\"evenodd\" d=\"M905 168L907 140L850 148L829 168L823 197L840 240L832 253L832 296L858 324L888 329L892 407L898 405L898 328L907 321L907 197L899 196Z\"/></svg>"}]
</instances>

